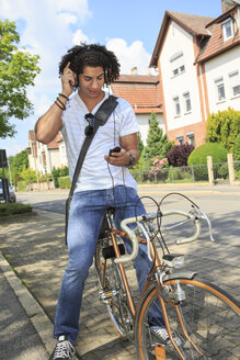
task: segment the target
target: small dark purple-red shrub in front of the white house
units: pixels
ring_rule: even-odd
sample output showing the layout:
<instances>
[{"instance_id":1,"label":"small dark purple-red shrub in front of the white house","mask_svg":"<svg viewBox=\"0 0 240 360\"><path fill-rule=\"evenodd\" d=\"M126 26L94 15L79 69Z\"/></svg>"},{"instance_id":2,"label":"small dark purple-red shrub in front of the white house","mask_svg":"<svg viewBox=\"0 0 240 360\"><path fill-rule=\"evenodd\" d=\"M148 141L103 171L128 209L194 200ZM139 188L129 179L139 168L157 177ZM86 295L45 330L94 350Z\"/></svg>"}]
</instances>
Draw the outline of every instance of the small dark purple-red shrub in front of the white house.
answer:
<instances>
[{"instance_id":1,"label":"small dark purple-red shrub in front of the white house","mask_svg":"<svg viewBox=\"0 0 240 360\"><path fill-rule=\"evenodd\" d=\"M169 165L174 167L186 166L187 158L193 150L194 146L192 144L173 146L173 148L167 153Z\"/></svg>"}]
</instances>

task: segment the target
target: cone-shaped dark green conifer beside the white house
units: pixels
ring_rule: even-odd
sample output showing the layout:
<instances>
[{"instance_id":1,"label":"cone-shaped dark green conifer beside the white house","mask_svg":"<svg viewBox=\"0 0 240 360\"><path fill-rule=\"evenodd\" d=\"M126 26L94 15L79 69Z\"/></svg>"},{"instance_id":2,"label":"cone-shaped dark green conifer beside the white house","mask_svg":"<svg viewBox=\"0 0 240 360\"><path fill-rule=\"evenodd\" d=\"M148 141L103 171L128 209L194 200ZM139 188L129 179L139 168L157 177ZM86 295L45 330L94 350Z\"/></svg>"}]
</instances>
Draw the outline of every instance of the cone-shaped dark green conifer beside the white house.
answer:
<instances>
[{"instance_id":1,"label":"cone-shaped dark green conifer beside the white house","mask_svg":"<svg viewBox=\"0 0 240 360\"><path fill-rule=\"evenodd\" d=\"M172 143L168 140L167 135L163 135L162 128L159 127L156 113L151 113L147 146L144 149L142 156L145 161L150 165L155 156L161 159L165 158L168 150L172 147Z\"/></svg>"}]
</instances>

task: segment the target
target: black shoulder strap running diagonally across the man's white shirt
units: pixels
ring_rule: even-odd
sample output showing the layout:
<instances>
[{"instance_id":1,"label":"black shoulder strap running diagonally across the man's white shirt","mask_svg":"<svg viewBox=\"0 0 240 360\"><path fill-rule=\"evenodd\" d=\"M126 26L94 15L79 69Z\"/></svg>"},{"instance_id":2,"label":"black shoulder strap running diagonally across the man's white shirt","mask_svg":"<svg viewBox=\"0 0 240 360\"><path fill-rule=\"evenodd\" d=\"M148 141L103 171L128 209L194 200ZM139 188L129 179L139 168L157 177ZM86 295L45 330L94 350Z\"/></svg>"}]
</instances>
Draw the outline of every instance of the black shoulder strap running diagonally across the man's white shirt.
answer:
<instances>
[{"instance_id":1,"label":"black shoulder strap running diagonally across the man's white shirt","mask_svg":"<svg viewBox=\"0 0 240 360\"><path fill-rule=\"evenodd\" d=\"M75 175L72 178L72 182L71 182L71 189L69 191L69 195L66 202L66 226L65 226L65 240L67 244L67 229L68 229L68 214L69 214L69 207L70 207L70 203L71 203L71 199L75 192L75 188L76 188L76 183L82 167L82 164L84 161L85 158L85 154L92 143L92 139L99 128L99 126L103 126L107 120L110 119L111 114L114 112L114 110L117 106L117 101L116 101L116 97L110 95L99 108L99 110L96 111L96 113L94 114L94 131L91 135L85 136L85 139L83 142L81 151L79 154L79 158L75 168Z\"/></svg>"}]
</instances>

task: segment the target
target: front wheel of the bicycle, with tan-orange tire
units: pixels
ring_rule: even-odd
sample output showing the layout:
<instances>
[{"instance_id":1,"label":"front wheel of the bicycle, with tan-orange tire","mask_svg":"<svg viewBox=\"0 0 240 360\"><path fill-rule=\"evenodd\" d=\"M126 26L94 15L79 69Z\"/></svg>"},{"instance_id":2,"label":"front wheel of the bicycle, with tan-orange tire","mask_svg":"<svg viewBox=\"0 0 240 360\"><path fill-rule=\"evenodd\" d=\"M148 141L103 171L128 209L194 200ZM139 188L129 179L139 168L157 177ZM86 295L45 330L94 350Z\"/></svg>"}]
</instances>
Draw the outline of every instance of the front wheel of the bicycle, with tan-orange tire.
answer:
<instances>
[{"instance_id":1,"label":"front wheel of the bicycle, with tan-orange tire","mask_svg":"<svg viewBox=\"0 0 240 360\"><path fill-rule=\"evenodd\" d=\"M183 335L172 302L164 296L164 303L173 336L181 339L185 360L239 360L240 359L240 303L220 288L190 279L171 279L164 281L169 290L176 283L185 292L185 300L180 308L190 338L197 345L197 353ZM164 293L164 291L163 291ZM157 290L152 284L146 292L138 308L136 318L136 346L138 359L157 359L155 347L158 341L149 330L149 310L157 300ZM171 304L170 304L171 303ZM160 307L159 303L156 305ZM156 324L157 325L157 324ZM172 345L164 346L167 359L182 359Z\"/></svg>"}]
</instances>

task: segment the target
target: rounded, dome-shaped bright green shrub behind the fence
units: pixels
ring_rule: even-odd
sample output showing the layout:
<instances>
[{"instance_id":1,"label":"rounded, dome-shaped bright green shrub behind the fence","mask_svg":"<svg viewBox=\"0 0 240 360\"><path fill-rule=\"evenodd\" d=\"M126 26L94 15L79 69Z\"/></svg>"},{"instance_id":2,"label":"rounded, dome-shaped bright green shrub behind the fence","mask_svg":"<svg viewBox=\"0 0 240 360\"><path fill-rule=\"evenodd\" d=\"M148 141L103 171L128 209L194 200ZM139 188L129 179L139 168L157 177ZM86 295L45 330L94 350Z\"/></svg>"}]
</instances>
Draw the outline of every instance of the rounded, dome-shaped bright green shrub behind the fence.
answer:
<instances>
[{"instance_id":1,"label":"rounded, dome-shaped bright green shrub behind the fence","mask_svg":"<svg viewBox=\"0 0 240 360\"><path fill-rule=\"evenodd\" d=\"M187 165L207 164L207 156L213 157L213 162L227 161L227 149L218 143L206 143L194 149L188 159Z\"/></svg>"}]
</instances>

